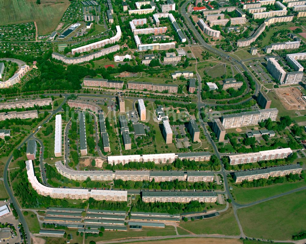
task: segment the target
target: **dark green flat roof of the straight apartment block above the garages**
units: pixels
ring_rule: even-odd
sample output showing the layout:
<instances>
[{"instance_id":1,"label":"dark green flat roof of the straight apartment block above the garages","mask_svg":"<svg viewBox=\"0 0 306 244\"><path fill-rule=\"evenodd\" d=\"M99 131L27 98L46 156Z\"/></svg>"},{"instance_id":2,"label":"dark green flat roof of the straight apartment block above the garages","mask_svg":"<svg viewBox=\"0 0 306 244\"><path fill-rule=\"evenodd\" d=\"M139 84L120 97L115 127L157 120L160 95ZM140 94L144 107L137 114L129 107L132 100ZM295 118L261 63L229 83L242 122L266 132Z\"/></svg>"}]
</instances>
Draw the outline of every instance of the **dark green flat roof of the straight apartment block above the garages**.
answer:
<instances>
[{"instance_id":1,"label":"dark green flat roof of the straight apartment block above the garages","mask_svg":"<svg viewBox=\"0 0 306 244\"><path fill-rule=\"evenodd\" d=\"M216 197L217 192L206 191L143 191L143 197Z\"/></svg>"}]
</instances>

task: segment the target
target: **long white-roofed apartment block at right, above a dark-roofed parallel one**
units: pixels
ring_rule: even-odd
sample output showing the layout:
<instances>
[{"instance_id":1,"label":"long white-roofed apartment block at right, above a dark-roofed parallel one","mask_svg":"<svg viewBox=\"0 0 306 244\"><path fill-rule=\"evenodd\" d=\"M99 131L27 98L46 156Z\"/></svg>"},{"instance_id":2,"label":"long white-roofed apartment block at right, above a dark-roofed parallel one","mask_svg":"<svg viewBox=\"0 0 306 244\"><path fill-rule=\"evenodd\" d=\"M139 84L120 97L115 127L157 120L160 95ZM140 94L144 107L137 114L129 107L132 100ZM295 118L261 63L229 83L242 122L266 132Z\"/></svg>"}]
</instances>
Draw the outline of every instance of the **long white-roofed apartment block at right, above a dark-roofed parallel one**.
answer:
<instances>
[{"instance_id":1,"label":"long white-roofed apartment block at right, above a dark-roofed parallel one","mask_svg":"<svg viewBox=\"0 0 306 244\"><path fill-rule=\"evenodd\" d=\"M264 160L272 160L279 158L287 158L293 153L293 151L288 148L252 152L238 155L230 155L230 165L243 164L243 163L254 163Z\"/></svg>"}]
</instances>

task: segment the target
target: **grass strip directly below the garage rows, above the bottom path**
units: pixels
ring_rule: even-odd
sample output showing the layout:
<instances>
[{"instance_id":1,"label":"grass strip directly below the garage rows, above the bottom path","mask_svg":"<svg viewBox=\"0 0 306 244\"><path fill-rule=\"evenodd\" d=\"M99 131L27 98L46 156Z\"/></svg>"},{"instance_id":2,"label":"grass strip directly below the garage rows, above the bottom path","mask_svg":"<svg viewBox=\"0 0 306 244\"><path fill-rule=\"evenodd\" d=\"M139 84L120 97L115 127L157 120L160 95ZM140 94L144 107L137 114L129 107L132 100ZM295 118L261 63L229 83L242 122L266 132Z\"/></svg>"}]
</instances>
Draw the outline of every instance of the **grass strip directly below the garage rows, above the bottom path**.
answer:
<instances>
[{"instance_id":1,"label":"grass strip directly below the garage rows, above the bottom path","mask_svg":"<svg viewBox=\"0 0 306 244\"><path fill-rule=\"evenodd\" d=\"M85 244L90 241L106 241L112 239L128 238L128 237L140 237L140 236L166 236L166 235L176 235L174 226L165 226L165 228L149 228L143 227L141 231L130 230L127 231L104 231L103 237L97 239L95 237L88 237L85 239Z\"/></svg>"}]
</instances>

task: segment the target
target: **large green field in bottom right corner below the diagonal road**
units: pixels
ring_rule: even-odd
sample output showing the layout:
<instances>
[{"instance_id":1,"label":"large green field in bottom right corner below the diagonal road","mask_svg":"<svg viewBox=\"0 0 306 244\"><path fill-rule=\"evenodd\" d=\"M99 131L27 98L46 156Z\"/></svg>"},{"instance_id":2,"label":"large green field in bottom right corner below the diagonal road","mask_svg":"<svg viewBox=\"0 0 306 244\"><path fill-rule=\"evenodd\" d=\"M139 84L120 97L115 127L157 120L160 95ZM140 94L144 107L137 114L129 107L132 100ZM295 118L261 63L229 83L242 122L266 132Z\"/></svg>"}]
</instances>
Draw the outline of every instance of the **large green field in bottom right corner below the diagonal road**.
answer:
<instances>
[{"instance_id":1,"label":"large green field in bottom right corner below the diagonal road","mask_svg":"<svg viewBox=\"0 0 306 244\"><path fill-rule=\"evenodd\" d=\"M292 235L306 229L305 201L305 191L298 191L238 209L244 234L270 240L290 240Z\"/></svg>"}]
</instances>

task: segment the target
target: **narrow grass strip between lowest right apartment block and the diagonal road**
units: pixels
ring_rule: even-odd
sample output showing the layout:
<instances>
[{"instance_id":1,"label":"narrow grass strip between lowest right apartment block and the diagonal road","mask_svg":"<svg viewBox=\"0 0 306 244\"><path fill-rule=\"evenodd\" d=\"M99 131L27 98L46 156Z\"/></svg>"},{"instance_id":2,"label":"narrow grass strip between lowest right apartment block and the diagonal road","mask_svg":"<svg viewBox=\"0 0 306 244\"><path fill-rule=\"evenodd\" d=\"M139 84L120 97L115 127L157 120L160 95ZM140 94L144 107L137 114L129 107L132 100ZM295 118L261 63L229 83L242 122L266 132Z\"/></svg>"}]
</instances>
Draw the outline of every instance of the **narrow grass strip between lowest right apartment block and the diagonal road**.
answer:
<instances>
[{"instance_id":1,"label":"narrow grass strip between lowest right apartment block and the diagonal road","mask_svg":"<svg viewBox=\"0 0 306 244\"><path fill-rule=\"evenodd\" d=\"M267 187L256 188L237 188L233 187L233 197L236 202L240 204L246 204L249 202L255 202L267 197L278 195L282 192L291 191L296 188L305 186L304 181L298 181L294 183L273 184Z\"/></svg>"}]
</instances>

